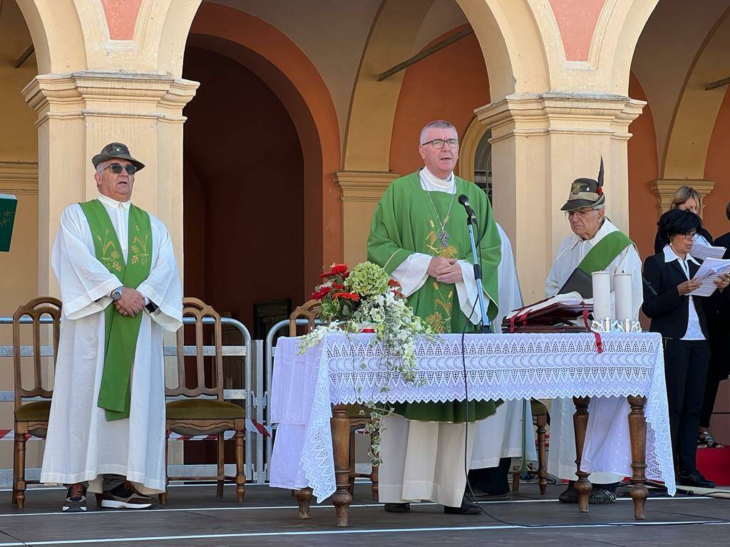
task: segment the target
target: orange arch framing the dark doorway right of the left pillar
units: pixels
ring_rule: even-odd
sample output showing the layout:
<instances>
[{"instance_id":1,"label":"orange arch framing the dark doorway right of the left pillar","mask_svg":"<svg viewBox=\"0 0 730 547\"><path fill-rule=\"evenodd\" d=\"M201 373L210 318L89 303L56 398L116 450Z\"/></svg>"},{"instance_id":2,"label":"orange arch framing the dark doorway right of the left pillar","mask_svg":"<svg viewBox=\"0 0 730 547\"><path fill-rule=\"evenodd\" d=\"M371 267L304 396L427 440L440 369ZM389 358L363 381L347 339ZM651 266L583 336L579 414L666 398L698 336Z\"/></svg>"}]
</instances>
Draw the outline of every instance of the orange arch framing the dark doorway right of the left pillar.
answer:
<instances>
[{"instance_id":1,"label":"orange arch framing the dark doorway right of the left pillar","mask_svg":"<svg viewBox=\"0 0 730 547\"><path fill-rule=\"evenodd\" d=\"M307 286L323 265L342 259L342 214L332 174L339 168L339 125L331 96L315 66L285 34L245 12L203 4L188 43L244 64L280 98L304 153ZM323 214L326 211L327 214Z\"/></svg>"}]
</instances>

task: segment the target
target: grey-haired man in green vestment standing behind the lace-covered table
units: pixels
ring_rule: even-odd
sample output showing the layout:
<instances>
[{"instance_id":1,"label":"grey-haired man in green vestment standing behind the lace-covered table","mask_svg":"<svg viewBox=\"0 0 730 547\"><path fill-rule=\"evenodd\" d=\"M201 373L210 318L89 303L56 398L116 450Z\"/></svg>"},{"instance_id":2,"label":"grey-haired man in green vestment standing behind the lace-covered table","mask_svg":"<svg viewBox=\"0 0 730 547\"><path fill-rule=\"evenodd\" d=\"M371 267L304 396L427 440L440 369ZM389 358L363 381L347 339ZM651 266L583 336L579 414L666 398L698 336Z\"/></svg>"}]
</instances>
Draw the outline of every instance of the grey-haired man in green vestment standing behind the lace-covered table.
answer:
<instances>
[{"instance_id":1,"label":"grey-haired man in green vestment standing behind the lace-covered table","mask_svg":"<svg viewBox=\"0 0 730 547\"><path fill-rule=\"evenodd\" d=\"M475 235L490 319L496 317L498 303L499 232L483 190L453 174L458 158L453 125L431 123L420 137L419 152L425 166L396 179L385 190L373 214L368 260L383 266L401 283L409 305L435 331L470 333L480 322L481 311L473 271L475 257L458 195L469 198L479 219ZM381 443L384 462L379 490L386 511L407 511L407 502L423 499L445 505L447 513L478 511L463 500L464 422L491 416L497 404L450 401L396 405L399 416L385 418Z\"/></svg>"}]
</instances>

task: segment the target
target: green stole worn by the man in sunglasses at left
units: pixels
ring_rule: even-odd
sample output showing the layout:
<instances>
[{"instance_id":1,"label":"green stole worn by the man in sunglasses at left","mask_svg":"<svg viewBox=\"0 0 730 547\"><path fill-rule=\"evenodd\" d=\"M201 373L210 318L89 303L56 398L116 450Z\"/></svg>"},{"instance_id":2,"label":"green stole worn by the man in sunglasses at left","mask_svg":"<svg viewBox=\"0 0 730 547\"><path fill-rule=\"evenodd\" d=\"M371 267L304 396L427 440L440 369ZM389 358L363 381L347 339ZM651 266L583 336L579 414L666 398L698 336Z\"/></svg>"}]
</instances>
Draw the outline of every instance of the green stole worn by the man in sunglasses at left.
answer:
<instances>
[{"instance_id":1,"label":"green stole worn by the man in sunglasses at left","mask_svg":"<svg viewBox=\"0 0 730 547\"><path fill-rule=\"evenodd\" d=\"M112 220L98 199L79 203L86 215L96 258L118 277L120 285L136 289L150 276L152 228L150 215L134 205L129 207L127 263ZM142 313L129 317L110 304L104 310L104 372L97 405L107 411L107 421L129 417L131 372L137 351Z\"/></svg>"}]
</instances>

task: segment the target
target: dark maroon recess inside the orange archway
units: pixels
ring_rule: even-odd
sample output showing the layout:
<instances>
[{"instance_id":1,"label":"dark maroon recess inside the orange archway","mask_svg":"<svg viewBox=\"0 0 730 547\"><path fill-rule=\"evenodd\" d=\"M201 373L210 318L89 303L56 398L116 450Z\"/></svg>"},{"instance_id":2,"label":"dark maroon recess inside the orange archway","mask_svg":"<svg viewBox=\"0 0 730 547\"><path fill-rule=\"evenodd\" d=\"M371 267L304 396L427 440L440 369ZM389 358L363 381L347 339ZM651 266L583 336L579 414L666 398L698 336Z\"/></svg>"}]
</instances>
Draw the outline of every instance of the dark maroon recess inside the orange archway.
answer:
<instances>
[{"instance_id":1,"label":"dark maroon recess inside the orange archway","mask_svg":"<svg viewBox=\"0 0 730 547\"><path fill-rule=\"evenodd\" d=\"M185 110L186 234L201 221L205 230L204 255L199 241L185 239L185 292L204 277L207 302L253 330L254 302L296 305L304 295L299 139L283 104L244 66L188 48L185 77L201 82Z\"/></svg>"}]
</instances>

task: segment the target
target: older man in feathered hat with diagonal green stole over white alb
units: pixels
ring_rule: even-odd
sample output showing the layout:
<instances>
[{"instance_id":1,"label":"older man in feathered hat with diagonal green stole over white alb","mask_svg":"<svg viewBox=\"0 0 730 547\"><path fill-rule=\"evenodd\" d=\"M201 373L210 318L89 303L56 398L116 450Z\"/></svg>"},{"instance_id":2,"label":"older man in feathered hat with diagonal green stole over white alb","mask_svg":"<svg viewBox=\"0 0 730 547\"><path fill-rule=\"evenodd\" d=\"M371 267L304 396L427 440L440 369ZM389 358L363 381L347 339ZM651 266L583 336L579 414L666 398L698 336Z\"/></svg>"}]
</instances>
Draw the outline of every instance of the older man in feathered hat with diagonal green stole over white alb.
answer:
<instances>
[{"instance_id":1,"label":"older man in feathered hat with diagonal green stole over white alb","mask_svg":"<svg viewBox=\"0 0 730 547\"><path fill-rule=\"evenodd\" d=\"M562 207L570 222L572 234L558 249L553 268L545 282L545 295L577 290L584 292L591 284L591 274L607 271L613 291L615 274L631 274L632 319L639 319L639 308L644 300L642 263L636 246L605 216L606 196L603 192L603 160L598 179L576 179L571 186L568 201ZM587 294L581 292L584 297ZM614 293L612 292L612 299ZM614 304L612 303L612 306ZM629 403L626 397L593 397L588 408L589 418L583 446L581 467L589 471L593 489L589 503L605 504L616 500L616 486L629 470L630 454ZM575 405L572 398L556 399L550 407L550 451L548 473L569 479L567 489L560 494L563 503L577 503L574 488ZM623 447L623 448L622 448Z\"/></svg>"}]
</instances>

